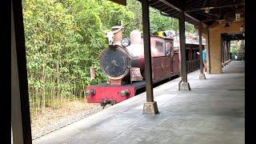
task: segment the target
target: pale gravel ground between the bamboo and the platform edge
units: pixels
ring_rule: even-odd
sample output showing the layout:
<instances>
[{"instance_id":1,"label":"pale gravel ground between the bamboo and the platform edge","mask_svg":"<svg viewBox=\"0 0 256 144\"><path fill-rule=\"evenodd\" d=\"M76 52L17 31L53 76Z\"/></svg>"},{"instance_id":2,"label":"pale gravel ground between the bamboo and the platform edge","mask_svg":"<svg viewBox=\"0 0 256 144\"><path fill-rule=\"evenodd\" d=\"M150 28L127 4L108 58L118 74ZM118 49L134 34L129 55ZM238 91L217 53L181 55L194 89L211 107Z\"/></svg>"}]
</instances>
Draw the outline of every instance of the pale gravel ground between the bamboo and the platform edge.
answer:
<instances>
[{"instance_id":1,"label":"pale gravel ground between the bamboo and the platform edge","mask_svg":"<svg viewBox=\"0 0 256 144\"><path fill-rule=\"evenodd\" d=\"M106 106L104 109L108 107L110 106ZM48 108L42 113L31 116L32 140L50 134L71 123L78 122L82 118L86 118L102 110L102 106L99 104L81 101L66 102L62 108L58 110ZM11 130L11 143L13 143L12 139Z\"/></svg>"}]
</instances>

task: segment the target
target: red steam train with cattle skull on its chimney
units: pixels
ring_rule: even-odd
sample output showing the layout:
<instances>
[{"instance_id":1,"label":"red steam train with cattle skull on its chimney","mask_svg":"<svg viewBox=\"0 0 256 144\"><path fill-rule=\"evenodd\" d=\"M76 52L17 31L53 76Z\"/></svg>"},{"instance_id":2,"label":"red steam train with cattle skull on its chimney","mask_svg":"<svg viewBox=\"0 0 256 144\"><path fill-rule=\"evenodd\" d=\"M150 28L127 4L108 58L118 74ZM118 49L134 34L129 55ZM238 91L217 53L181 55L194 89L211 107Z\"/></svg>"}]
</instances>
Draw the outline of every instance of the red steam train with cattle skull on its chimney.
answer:
<instances>
[{"instance_id":1,"label":"red steam train with cattle skull on its chimney","mask_svg":"<svg viewBox=\"0 0 256 144\"><path fill-rule=\"evenodd\" d=\"M178 34L170 36L170 32L150 36L153 83L180 76ZM109 82L88 86L85 97L87 102L101 106L132 98L146 86L142 33L133 30L130 38L122 38L122 26L113 26L106 36L109 46L102 51L99 61ZM188 72L199 69L198 51L198 44L186 44Z\"/></svg>"}]
</instances>

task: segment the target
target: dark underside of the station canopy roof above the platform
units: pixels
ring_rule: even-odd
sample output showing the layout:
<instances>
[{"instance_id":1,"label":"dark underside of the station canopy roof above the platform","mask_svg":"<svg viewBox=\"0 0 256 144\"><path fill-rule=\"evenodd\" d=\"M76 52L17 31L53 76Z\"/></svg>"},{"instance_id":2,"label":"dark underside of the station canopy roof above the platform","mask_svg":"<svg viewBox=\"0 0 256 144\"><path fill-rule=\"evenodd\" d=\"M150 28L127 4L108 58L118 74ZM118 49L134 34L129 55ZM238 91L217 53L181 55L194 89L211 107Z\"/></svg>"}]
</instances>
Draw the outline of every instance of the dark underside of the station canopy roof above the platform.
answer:
<instances>
[{"instance_id":1,"label":"dark underside of the station canopy roof above the platform","mask_svg":"<svg viewBox=\"0 0 256 144\"><path fill-rule=\"evenodd\" d=\"M245 12L245 0L149 0L149 3L172 18L179 18L184 10L185 21L195 26L200 21L208 26L220 21L233 22L235 14L244 18Z\"/></svg>"}]
</instances>

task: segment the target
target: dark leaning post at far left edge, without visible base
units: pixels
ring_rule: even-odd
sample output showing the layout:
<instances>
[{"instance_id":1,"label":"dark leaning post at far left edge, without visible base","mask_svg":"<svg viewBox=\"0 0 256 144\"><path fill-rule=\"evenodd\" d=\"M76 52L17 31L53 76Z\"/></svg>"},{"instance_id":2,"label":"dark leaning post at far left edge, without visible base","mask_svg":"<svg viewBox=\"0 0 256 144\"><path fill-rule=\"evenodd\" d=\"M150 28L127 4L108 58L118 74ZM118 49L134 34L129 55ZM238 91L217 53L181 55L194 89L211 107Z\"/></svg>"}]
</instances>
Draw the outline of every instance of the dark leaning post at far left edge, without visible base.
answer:
<instances>
[{"instance_id":1,"label":"dark leaning post at far left edge, without visible base","mask_svg":"<svg viewBox=\"0 0 256 144\"><path fill-rule=\"evenodd\" d=\"M13 143L32 143L22 2L11 1L11 123Z\"/></svg>"}]
</instances>

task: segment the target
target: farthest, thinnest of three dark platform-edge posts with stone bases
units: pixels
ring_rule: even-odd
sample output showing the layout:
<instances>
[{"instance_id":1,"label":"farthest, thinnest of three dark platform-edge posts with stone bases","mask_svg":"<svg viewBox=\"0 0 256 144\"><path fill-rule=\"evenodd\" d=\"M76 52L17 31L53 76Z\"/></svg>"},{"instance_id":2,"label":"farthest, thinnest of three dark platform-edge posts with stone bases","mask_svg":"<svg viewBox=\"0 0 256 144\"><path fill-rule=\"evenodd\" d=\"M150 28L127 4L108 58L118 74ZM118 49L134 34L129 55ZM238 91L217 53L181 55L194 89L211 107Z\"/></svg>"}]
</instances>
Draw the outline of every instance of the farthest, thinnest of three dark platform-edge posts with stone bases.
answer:
<instances>
[{"instance_id":1,"label":"farthest, thinnest of three dark platform-edge posts with stone bases","mask_svg":"<svg viewBox=\"0 0 256 144\"><path fill-rule=\"evenodd\" d=\"M198 34L199 34L199 62L200 62L200 74L199 79L206 79L206 76L203 72L203 61L202 61L202 22L199 22L199 28L198 28Z\"/></svg>"}]
</instances>

